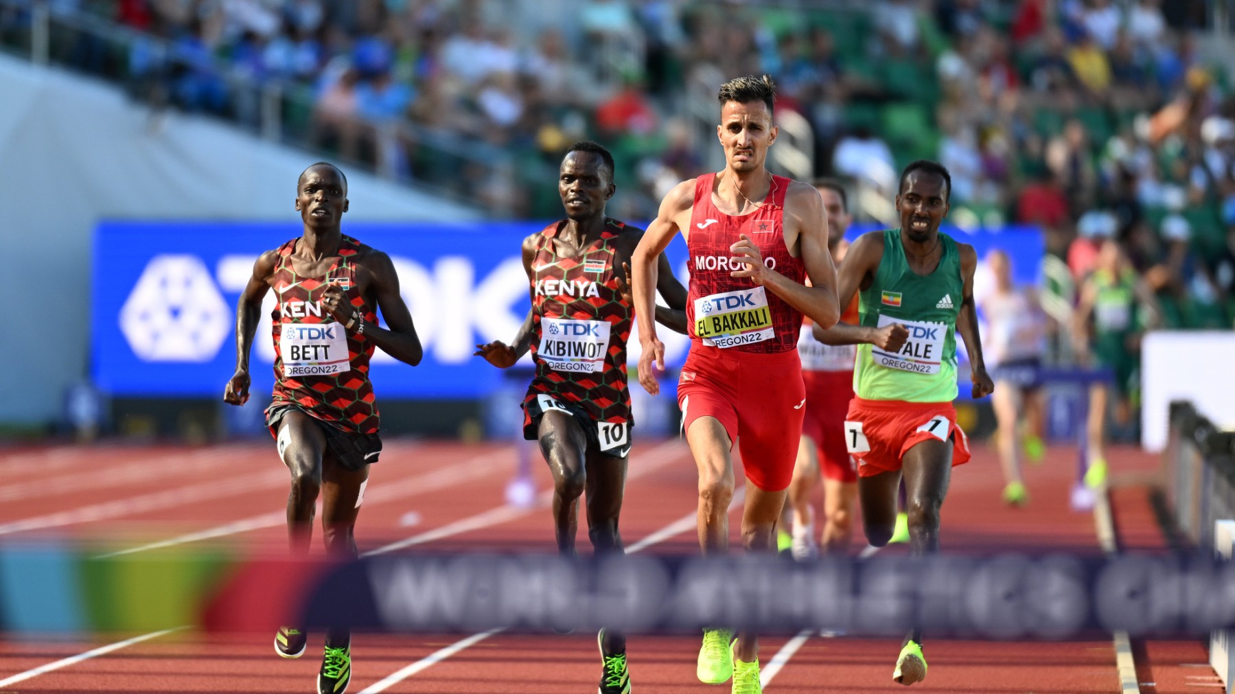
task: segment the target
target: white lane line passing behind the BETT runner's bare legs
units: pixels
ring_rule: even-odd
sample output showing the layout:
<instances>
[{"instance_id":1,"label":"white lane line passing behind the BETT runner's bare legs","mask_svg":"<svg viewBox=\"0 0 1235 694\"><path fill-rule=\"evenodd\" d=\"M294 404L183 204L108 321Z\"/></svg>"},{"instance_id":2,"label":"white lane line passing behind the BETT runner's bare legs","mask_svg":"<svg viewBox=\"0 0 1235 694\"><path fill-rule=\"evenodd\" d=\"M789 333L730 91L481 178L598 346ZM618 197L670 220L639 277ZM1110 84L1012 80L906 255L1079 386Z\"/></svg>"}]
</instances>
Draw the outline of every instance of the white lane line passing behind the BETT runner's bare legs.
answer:
<instances>
[{"instance_id":1,"label":"white lane line passing behind the BETT runner's bare legs","mask_svg":"<svg viewBox=\"0 0 1235 694\"><path fill-rule=\"evenodd\" d=\"M429 491L437 491L440 489L446 489L448 487L462 484L464 482L472 482L473 479L492 473L493 468L496 467L496 464L503 459L509 458L509 456L510 452L505 449L493 453L484 453L480 456L475 456L474 458L471 458L469 461L462 464L441 468L431 473L419 474L408 479L383 483L382 487L378 487L377 489L368 493L368 496L366 496L364 503L368 506L372 506L373 504L383 504L387 501L405 499L409 496L415 496L417 494L425 494ZM270 511L267 514L259 514L256 516L241 519L238 521L227 522L215 527L189 532L186 535L170 537L168 540L161 540L157 542L151 542L148 545L141 545L137 547L130 547L127 550L120 550L117 552L110 552L106 554L101 554L99 558L119 557L121 554L135 554L137 552L147 552L149 550L162 550L164 547L186 545L189 542L214 540L216 537L226 537L228 535L251 532L253 530L261 530L263 527L275 527L285 522L287 522L285 511Z\"/></svg>"}]
</instances>

